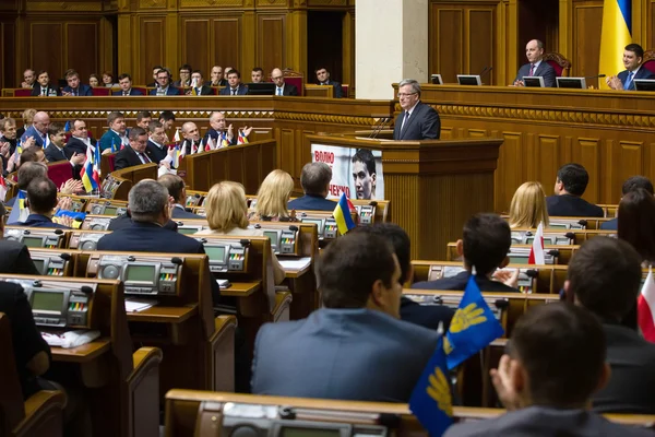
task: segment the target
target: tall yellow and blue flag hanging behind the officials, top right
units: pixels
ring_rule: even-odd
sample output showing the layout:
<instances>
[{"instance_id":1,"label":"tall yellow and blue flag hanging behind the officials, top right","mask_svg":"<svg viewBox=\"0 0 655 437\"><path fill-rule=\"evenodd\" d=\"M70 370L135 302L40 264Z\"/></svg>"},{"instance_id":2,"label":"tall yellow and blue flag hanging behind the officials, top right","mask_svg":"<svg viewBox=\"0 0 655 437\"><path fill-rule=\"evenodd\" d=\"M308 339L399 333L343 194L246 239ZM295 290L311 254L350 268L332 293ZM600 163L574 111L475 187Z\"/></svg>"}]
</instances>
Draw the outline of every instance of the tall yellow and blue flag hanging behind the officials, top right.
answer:
<instances>
[{"instance_id":1,"label":"tall yellow and blue flag hanging behind the officials, top right","mask_svg":"<svg viewBox=\"0 0 655 437\"><path fill-rule=\"evenodd\" d=\"M615 75L623 71L622 55L632 43L632 0L605 0L603 29L600 34L600 60L598 73ZM605 81L599 87L608 88Z\"/></svg>"}]
</instances>

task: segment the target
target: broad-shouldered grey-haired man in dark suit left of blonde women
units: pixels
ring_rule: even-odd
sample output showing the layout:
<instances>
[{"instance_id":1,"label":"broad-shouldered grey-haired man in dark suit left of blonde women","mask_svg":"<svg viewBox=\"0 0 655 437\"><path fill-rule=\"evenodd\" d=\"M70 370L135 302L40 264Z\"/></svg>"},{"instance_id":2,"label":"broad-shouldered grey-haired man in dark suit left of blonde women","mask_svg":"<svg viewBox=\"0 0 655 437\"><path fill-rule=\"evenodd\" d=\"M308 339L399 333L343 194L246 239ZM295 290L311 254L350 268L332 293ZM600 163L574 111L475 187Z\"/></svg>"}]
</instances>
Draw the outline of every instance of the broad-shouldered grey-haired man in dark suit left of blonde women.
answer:
<instances>
[{"instance_id":1,"label":"broad-shouldered grey-haired man in dark suit left of blonde women","mask_svg":"<svg viewBox=\"0 0 655 437\"><path fill-rule=\"evenodd\" d=\"M97 250L204 253L202 243L167 228L169 206L168 190L162 184L152 179L140 181L128 194L132 223L100 238ZM221 296L218 284L211 281L211 286L212 298L217 303Z\"/></svg>"}]
</instances>

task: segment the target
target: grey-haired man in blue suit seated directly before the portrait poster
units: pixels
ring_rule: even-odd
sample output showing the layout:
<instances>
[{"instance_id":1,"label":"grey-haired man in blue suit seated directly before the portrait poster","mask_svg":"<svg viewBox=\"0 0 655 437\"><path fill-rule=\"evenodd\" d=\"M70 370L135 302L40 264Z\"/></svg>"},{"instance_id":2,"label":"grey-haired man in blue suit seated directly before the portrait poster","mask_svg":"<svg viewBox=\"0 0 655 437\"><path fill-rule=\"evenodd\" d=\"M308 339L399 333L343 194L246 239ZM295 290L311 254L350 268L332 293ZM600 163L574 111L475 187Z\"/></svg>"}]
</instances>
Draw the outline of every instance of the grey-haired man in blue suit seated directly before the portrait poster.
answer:
<instances>
[{"instance_id":1,"label":"grey-haired man in blue suit seated directly before the portrait poster","mask_svg":"<svg viewBox=\"0 0 655 437\"><path fill-rule=\"evenodd\" d=\"M330 192L332 168L325 163L309 163L302 167L300 185L305 196L289 201L289 210L334 211L336 203L325 199Z\"/></svg>"}]
</instances>

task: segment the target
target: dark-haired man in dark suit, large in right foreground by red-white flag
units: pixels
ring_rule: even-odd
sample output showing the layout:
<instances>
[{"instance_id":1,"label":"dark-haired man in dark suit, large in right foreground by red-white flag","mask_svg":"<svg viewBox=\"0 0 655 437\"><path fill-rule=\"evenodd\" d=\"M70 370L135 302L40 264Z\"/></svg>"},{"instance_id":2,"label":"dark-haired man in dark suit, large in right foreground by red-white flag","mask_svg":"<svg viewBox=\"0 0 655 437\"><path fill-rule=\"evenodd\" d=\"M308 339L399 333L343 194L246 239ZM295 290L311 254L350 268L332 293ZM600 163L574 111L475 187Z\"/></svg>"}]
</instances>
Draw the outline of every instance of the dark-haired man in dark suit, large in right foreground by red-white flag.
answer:
<instances>
[{"instance_id":1,"label":"dark-haired man in dark suit, large in right foreground by red-white flag","mask_svg":"<svg viewBox=\"0 0 655 437\"><path fill-rule=\"evenodd\" d=\"M611 378L594 395L594 410L655 414L655 344L621 324L640 294L640 255L622 239L592 238L575 252L567 273L567 297L593 312L605 331Z\"/></svg>"}]
</instances>

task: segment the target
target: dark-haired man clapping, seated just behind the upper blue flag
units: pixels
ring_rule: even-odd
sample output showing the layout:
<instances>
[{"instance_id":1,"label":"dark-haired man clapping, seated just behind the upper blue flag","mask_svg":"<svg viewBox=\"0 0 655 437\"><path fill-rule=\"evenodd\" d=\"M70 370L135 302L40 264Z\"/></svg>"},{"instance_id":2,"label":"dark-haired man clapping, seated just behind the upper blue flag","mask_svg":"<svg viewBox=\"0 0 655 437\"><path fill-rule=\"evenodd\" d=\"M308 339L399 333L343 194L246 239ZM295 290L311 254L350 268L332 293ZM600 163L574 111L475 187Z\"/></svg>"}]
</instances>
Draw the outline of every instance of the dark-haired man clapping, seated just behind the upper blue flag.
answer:
<instances>
[{"instance_id":1,"label":"dark-haired man clapping, seated just behind the upper blue flag","mask_svg":"<svg viewBox=\"0 0 655 437\"><path fill-rule=\"evenodd\" d=\"M519 293L519 270L496 272L509 263L512 232L507 221L496 214L475 214L464 225L463 239L457 240L457 253L463 257L465 272L437 281L417 282L412 288L464 290L473 267L483 292ZM496 281L496 275L500 281Z\"/></svg>"}]
</instances>

